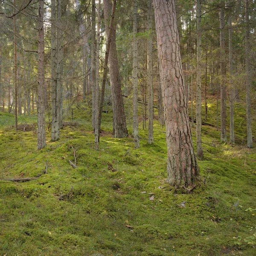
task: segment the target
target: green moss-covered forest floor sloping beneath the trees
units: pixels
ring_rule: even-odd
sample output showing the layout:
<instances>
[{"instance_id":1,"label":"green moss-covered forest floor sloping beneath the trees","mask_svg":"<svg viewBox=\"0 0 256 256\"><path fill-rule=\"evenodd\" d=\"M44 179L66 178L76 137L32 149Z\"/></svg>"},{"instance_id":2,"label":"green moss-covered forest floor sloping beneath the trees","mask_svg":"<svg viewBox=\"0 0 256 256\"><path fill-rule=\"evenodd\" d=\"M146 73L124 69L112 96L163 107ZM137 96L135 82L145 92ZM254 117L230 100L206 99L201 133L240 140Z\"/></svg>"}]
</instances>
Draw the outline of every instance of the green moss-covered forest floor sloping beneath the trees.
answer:
<instances>
[{"instance_id":1,"label":"green moss-covered forest floor sloping beneath the trees","mask_svg":"<svg viewBox=\"0 0 256 256\"><path fill-rule=\"evenodd\" d=\"M209 104L213 126L215 108ZM15 132L14 117L0 113L0 256L256 255L256 149L246 148L244 106L236 104L236 145L203 125L201 177L191 191L166 183L166 134L157 120L154 144L140 127L134 149L131 135L113 138L112 113L103 113L95 151L90 108L79 102L72 113L66 120L79 126L62 129L58 142L47 130L41 151L33 125ZM35 124L36 116L19 122ZM38 179L5 180L23 177Z\"/></svg>"}]
</instances>

